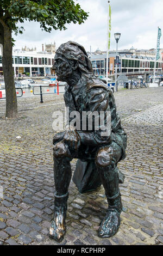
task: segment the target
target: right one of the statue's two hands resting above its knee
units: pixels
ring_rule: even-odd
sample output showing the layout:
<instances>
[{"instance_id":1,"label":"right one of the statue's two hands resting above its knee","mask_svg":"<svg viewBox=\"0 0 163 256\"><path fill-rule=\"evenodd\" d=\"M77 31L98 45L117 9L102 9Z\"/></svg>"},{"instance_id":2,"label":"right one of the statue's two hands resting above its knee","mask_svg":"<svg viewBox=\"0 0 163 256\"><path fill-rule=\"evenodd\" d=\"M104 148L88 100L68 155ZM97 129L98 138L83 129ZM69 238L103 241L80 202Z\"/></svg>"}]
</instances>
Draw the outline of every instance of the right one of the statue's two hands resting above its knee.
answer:
<instances>
[{"instance_id":1,"label":"right one of the statue's two hands resting above its knee","mask_svg":"<svg viewBox=\"0 0 163 256\"><path fill-rule=\"evenodd\" d=\"M65 131L64 142L71 148L77 150L80 147L81 139L78 132L70 126L70 130Z\"/></svg>"}]
</instances>

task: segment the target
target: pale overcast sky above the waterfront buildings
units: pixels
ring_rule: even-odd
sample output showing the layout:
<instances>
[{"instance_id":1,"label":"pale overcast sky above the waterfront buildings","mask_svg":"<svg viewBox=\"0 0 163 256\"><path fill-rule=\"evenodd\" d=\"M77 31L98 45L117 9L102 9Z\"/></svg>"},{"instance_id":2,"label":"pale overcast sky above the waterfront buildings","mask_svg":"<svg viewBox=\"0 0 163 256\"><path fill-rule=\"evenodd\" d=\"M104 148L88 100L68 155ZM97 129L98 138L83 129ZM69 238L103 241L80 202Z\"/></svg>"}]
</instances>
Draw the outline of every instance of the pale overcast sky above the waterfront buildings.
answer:
<instances>
[{"instance_id":1,"label":"pale overcast sky above the waterfront buildings","mask_svg":"<svg viewBox=\"0 0 163 256\"><path fill-rule=\"evenodd\" d=\"M56 42L57 47L69 40L82 44L86 51L92 52L99 48L106 50L107 40L107 0L78 0L81 7L89 12L89 17L82 25L67 25L66 31L42 32L39 23L24 22L25 31L15 36L15 49L22 46L35 47L41 51L42 44ZM160 48L163 48L163 0L111 0L111 45L115 50L116 41L114 33L120 32L119 49L128 49L131 46L139 49L156 47L158 27L161 28L162 37ZM22 26L22 23L21 23Z\"/></svg>"}]
</instances>

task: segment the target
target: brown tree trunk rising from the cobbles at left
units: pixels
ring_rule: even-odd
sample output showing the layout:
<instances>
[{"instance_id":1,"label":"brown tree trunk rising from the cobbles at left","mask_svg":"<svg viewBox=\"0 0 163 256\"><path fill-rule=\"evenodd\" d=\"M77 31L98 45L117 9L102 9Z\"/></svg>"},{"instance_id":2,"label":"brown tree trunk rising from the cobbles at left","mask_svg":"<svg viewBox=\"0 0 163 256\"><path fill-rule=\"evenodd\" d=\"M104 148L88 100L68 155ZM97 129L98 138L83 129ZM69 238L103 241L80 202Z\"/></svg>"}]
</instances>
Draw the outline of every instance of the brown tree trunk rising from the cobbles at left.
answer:
<instances>
[{"instance_id":1,"label":"brown tree trunk rising from the cobbles at left","mask_svg":"<svg viewBox=\"0 0 163 256\"><path fill-rule=\"evenodd\" d=\"M4 28L3 31L3 75L6 93L6 113L7 118L17 117L17 97L14 82L14 71L12 68L12 41L11 29Z\"/></svg>"}]
</instances>

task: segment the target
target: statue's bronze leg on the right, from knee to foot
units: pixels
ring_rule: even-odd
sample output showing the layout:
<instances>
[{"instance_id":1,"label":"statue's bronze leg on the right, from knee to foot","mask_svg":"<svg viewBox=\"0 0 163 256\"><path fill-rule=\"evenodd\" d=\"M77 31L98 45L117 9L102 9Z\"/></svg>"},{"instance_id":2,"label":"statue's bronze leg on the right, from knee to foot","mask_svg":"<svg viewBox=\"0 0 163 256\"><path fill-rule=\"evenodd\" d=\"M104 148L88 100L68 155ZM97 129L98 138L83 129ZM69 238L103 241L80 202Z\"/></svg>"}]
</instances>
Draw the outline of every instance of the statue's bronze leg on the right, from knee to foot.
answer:
<instances>
[{"instance_id":1,"label":"statue's bronze leg on the right, from knee to foot","mask_svg":"<svg viewBox=\"0 0 163 256\"><path fill-rule=\"evenodd\" d=\"M99 149L96 157L96 166L99 170L105 195L108 200L106 216L99 227L100 237L110 237L117 233L120 227L122 211L121 194L118 188L119 177L116 163L121 157L121 147L112 143L111 147Z\"/></svg>"}]
</instances>

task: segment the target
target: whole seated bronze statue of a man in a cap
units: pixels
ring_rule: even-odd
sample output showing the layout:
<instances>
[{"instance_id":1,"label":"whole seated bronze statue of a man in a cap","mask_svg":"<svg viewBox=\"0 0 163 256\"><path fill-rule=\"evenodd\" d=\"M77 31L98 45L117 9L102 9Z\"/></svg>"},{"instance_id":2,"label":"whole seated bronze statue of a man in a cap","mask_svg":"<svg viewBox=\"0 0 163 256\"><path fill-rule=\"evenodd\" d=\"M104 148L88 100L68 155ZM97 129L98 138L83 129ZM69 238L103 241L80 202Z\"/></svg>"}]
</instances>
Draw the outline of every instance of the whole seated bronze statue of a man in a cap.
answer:
<instances>
[{"instance_id":1,"label":"whole seated bronze statue of a man in a cap","mask_svg":"<svg viewBox=\"0 0 163 256\"><path fill-rule=\"evenodd\" d=\"M124 175L118 170L117 163L125 155L127 136L121 126L120 117L116 113L115 99L111 89L99 80L92 71L90 59L83 46L68 41L60 45L53 69L58 80L67 82L65 88L65 105L70 113L110 112L110 132L102 136L102 127L95 125L92 130L80 130L69 127L65 132L57 133L53 138L54 152L54 220L49 228L49 236L62 241L66 233L66 211L68 186L71 181L71 164L73 158L78 159L73 181L81 193L95 190L101 184L104 187L108 210L99 227L99 237L110 237L120 227L122 211L121 194L118 183L122 183ZM73 118L70 118L69 123ZM95 123L95 118L93 119Z\"/></svg>"}]
</instances>

